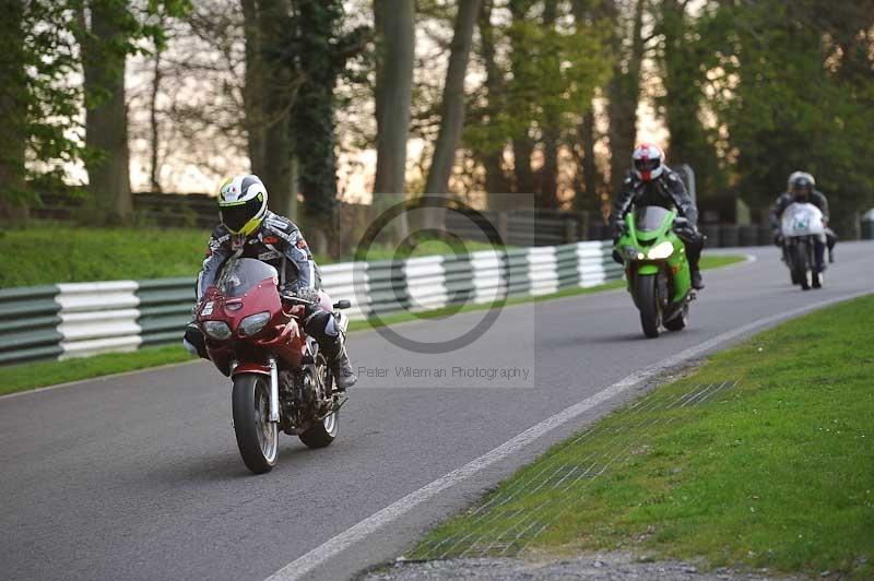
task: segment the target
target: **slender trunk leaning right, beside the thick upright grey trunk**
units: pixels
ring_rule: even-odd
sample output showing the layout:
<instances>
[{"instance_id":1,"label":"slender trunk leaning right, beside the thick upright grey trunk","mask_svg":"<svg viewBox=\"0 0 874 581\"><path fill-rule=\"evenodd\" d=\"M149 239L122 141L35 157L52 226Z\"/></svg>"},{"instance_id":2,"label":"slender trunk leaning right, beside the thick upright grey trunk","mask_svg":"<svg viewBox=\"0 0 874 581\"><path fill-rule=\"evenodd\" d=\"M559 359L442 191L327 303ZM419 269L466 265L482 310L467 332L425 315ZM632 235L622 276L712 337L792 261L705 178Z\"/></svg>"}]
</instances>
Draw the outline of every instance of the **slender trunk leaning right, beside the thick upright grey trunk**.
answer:
<instances>
[{"instance_id":1,"label":"slender trunk leaning right, beside the thick upright grey trunk","mask_svg":"<svg viewBox=\"0 0 874 581\"><path fill-rule=\"evenodd\" d=\"M464 126L464 78L473 44L473 26L480 12L480 1L459 0L440 107L440 130L425 183L425 193L428 194L446 195L449 192L449 177L456 163L456 149ZM427 227L441 228L442 222L442 212L426 213Z\"/></svg>"}]
</instances>

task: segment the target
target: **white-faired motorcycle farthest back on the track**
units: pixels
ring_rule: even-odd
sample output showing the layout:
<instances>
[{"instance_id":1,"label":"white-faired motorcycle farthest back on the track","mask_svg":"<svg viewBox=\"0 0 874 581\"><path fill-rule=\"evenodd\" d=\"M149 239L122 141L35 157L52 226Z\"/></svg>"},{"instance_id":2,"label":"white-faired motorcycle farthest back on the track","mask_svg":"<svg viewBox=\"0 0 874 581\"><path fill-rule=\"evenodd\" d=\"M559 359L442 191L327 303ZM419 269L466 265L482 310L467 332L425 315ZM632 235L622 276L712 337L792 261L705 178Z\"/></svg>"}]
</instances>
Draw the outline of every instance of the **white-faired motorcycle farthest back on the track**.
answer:
<instances>
[{"instance_id":1,"label":"white-faired motorcycle farthest back on the track","mask_svg":"<svg viewBox=\"0 0 874 581\"><path fill-rule=\"evenodd\" d=\"M789 266L792 284L807 290L811 285L822 286L822 273L814 272L816 264L815 245L826 241L826 226L823 212L814 204L793 202L783 211L780 218L783 260Z\"/></svg>"}]
</instances>

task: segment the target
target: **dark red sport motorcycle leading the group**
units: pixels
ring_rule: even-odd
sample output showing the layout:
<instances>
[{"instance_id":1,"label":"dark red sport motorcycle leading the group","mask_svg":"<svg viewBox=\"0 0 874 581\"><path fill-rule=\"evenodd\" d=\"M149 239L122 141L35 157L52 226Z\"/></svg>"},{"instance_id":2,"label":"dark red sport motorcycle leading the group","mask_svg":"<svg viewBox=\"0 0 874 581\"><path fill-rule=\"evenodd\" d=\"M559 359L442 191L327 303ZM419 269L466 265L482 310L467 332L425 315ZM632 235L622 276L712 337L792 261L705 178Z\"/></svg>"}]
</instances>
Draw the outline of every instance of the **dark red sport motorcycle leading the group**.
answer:
<instances>
[{"instance_id":1,"label":"dark red sport motorcycle leading the group","mask_svg":"<svg viewBox=\"0 0 874 581\"><path fill-rule=\"evenodd\" d=\"M279 432L297 436L310 448L336 438L339 411L346 398L315 339L304 333L306 300L280 295L276 269L249 258L232 258L215 286L198 305L197 323L215 367L234 382L232 404L237 446L249 470L270 472L279 455ZM327 311L349 308L347 300ZM343 332L349 320L339 315Z\"/></svg>"}]
</instances>

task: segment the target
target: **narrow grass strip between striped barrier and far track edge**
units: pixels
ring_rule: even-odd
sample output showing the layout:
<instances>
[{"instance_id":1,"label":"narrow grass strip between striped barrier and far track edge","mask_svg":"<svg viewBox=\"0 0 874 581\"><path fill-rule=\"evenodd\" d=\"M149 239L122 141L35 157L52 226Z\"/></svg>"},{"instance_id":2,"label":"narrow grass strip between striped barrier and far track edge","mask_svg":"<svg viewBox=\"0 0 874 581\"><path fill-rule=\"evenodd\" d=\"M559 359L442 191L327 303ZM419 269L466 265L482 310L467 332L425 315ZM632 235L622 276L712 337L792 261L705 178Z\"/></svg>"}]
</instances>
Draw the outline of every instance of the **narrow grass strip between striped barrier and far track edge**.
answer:
<instances>
[{"instance_id":1,"label":"narrow grass strip between striped barrier and far track edge","mask_svg":"<svg viewBox=\"0 0 874 581\"><path fill-rule=\"evenodd\" d=\"M724 259L729 260L727 261ZM742 260L744 260L744 257L742 256L704 257L701 259L701 266L716 268L733 262L740 262ZM544 301L555 298L586 295L601 290L609 290L612 288L621 288L624 286L624 284L625 283L623 281L612 281L610 283L589 288L565 288L558 293L539 297L510 297L507 299L506 305L519 305L522 303ZM469 305L462 307L461 309L456 307L447 307L418 313L399 312L387 315L379 321L352 321L350 323L350 330L359 331L366 329L376 329L378 327L397 324L417 319L441 319L445 317L450 317L456 312L469 312L473 310L486 309L488 307L489 305ZM190 359L188 352L185 351L181 345L177 344L162 345L157 347L143 347L132 353L110 353L105 355L96 355L94 357L67 359L63 361L38 361L12 365L0 369L2 370L2 374L0 374L0 395L43 388L46 386L54 386L57 383L66 383L68 381L91 379L110 374L133 371L137 369L144 369L146 367L179 363L188 359Z\"/></svg>"}]
</instances>

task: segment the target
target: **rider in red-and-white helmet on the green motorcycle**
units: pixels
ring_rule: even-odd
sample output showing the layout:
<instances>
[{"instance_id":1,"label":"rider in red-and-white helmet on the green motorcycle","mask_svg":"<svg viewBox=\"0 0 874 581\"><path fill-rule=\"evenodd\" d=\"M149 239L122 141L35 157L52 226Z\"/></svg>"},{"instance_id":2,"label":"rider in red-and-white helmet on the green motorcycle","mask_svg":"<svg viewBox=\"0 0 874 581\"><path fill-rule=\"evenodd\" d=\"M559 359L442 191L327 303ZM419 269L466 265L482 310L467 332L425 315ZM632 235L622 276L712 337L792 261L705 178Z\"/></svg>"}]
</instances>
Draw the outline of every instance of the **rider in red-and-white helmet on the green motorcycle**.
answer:
<instances>
[{"instance_id":1,"label":"rider in red-and-white helmet on the green motorcycle","mask_svg":"<svg viewBox=\"0 0 874 581\"><path fill-rule=\"evenodd\" d=\"M688 226L677 228L676 235L686 247L692 286L700 290L704 288L704 281L698 263L704 249L704 236L698 232L698 209L686 191L686 186L674 170L664 165L664 152L658 145L641 143L635 147L631 163L634 169L625 178L611 215L614 246L621 234L618 221L635 206L658 205L668 210L676 209L677 215L688 221ZM622 263L622 257L615 251L613 258Z\"/></svg>"}]
</instances>

